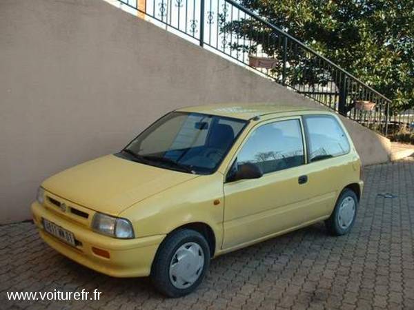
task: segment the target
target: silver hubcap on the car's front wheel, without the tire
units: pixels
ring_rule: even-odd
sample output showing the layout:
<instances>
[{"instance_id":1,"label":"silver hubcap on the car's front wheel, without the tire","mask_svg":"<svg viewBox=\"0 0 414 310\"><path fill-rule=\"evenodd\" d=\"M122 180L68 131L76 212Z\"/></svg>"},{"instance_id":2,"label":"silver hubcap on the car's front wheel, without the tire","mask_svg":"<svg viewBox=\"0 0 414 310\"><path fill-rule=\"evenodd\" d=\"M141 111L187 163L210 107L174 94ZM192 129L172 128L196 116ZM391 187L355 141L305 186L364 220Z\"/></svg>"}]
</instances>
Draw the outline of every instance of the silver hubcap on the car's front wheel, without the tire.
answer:
<instances>
[{"instance_id":1,"label":"silver hubcap on the car's front wheel, without the tire","mask_svg":"<svg viewBox=\"0 0 414 310\"><path fill-rule=\"evenodd\" d=\"M177 289L193 285L204 267L204 251L195 242L187 242L175 251L170 262L170 281Z\"/></svg>"}]
</instances>

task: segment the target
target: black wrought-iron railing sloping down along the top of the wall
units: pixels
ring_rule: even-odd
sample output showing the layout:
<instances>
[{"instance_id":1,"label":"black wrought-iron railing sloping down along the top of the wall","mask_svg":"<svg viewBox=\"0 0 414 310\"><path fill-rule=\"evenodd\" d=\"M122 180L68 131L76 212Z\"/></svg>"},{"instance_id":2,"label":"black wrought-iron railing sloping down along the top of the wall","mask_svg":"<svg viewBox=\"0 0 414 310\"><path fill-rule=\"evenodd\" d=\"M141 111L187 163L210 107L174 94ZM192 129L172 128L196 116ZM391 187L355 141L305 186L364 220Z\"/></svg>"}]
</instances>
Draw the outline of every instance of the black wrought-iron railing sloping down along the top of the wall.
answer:
<instances>
[{"instance_id":1,"label":"black wrought-iron railing sloping down along the top of the wall","mask_svg":"<svg viewBox=\"0 0 414 310\"><path fill-rule=\"evenodd\" d=\"M118 0L181 37L387 134L391 101L233 0Z\"/></svg>"}]
</instances>

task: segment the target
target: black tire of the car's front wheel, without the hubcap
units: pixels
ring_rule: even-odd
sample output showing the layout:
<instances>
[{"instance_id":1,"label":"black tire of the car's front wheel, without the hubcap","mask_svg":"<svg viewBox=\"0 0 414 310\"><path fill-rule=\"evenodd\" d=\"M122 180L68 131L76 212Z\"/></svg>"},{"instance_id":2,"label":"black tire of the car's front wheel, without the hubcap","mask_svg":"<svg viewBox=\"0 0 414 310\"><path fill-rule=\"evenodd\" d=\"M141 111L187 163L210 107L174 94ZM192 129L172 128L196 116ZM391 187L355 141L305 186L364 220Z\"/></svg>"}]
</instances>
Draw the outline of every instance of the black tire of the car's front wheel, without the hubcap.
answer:
<instances>
[{"instance_id":1,"label":"black tire of the car's front wheel, without the hubcap","mask_svg":"<svg viewBox=\"0 0 414 310\"><path fill-rule=\"evenodd\" d=\"M204 265L199 273L199 278L193 285L185 289L179 289L170 280L170 264L177 249L187 242L195 242L201 247L204 252ZM193 292L199 286L209 265L210 247L206 238L192 229L179 229L168 235L159 246L154 262L152 262L150 278L157 291L168 297L177 298Z\"/></svg>"}]
</instances>

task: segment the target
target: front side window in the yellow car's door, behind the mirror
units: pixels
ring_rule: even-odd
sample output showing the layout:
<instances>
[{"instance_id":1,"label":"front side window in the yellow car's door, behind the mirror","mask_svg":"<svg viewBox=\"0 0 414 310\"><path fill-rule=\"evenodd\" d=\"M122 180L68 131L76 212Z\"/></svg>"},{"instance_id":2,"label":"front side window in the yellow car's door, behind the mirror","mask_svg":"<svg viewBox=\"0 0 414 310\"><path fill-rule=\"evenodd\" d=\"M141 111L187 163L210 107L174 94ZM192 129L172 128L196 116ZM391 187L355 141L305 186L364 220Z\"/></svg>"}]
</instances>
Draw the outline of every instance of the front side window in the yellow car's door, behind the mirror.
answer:
<instances>
[{"instance_id":1,"label":"front side window in the yellow car's door, behind the mirror","mask_svg":"<svg viewBox=\"0 0 414 310\"><path fill-rule=\"evenodd\" d=\"M298 119L257 128L237 155L237 165L254 163L263 174L304 164L302 130Z\"/></svg>"}]
</instances>

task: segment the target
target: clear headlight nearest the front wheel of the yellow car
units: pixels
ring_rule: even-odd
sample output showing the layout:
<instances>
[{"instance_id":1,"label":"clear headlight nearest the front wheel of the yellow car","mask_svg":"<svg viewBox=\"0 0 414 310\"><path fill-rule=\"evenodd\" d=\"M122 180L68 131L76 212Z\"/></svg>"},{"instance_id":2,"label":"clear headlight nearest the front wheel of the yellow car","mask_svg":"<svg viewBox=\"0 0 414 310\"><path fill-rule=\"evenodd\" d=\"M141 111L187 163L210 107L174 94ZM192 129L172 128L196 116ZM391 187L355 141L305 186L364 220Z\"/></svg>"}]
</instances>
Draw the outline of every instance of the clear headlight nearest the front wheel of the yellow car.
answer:
<instances>
[{"instance_id":1,"label":"clear headlight nearest the front wheel of the yellow car","mask_svg":"<svg viewBox=\"0 0 414 310\"><path fill-rule=\"evenodd\" d=\"M96 213L92 220L92 229L99 234L121 238L134 238L132 224L126 218L115 218L106 214Z\"/></svg>"}]
</instances>

